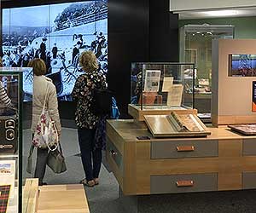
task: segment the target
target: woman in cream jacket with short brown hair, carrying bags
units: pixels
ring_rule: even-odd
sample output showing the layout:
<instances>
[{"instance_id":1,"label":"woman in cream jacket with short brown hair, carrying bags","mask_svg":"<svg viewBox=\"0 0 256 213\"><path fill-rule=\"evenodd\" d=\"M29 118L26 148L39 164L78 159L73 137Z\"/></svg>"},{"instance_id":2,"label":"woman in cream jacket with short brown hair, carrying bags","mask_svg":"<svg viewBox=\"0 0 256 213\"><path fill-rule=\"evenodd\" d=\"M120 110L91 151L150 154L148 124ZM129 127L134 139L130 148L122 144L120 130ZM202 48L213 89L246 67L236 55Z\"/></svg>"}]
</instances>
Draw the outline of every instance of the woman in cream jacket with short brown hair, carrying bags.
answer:
<instances>
[{"instance_id":1,"label":"woman in cream jacket with short brown hair, carrying bags","mask_svg":"<svg viewBox=\"0 0 256 213\"><path fill-rule=\"evenodd\" d=\"M58 111L57 94L54 83L51 79L44 76L46 66L44 60L33 59L29 61L28 67L33 68L33 97L32 97L32 132L35 132L38 119L41 115L46 98L46 110L49 112L49 117L55 121L58 135L61 135L61 121ZM47 164L48 148L38 147L37 164L34 177L39 179L39 185L43 185L43 179Z\"/></svg>"}]
</instances>

